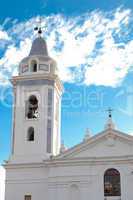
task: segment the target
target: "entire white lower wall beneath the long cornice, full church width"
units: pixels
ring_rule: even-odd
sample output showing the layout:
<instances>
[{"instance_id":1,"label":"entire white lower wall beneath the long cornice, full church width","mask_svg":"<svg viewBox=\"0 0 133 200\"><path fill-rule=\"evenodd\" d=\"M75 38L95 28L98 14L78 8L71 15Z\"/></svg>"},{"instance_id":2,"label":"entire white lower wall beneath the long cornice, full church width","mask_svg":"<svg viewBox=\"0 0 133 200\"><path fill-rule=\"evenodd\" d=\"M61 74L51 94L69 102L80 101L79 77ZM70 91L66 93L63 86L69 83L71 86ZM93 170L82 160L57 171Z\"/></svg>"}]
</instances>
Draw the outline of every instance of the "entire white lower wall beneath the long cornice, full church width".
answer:
<instances>
[{"instance_id":1,"label":"entire white lower wall beneath the long cornice, full church width","mask_svg":"<svg viewBox=\"0 0 133 200\"><path fill-rule=\"evenodd\" d=\"M109 168L115 168L121 174L121 199L133 200L133 168L127 161L7 169L6 200L24 200L25 194L31 194L32 200L69 200L73 185L77 187L79 200L104 200L104 173Z\"/></svg>"}]
</instances>

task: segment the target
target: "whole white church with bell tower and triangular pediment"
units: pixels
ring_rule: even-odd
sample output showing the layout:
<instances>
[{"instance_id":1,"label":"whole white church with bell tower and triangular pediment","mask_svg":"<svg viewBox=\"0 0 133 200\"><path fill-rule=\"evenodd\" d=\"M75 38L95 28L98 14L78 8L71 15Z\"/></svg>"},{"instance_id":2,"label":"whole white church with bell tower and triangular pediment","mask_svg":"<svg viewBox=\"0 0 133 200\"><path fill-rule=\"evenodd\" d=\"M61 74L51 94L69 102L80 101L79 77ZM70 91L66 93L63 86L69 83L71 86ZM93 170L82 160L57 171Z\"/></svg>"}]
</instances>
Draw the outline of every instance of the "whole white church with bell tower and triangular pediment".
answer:
<instances>
[{"instance_id":1,"label":"whole white church with bell tower and triangular pediment","mask_svg":"<svg viewBox=\"0 0 133 200\"><path fill-rule=\"evenodd\" d=\"M133 136L117 130L111 111L100 133L87 131L70 149L61 145L63 84L41 33L11 82L5 200L133 200Z\"/></svg>"}]
</instances>

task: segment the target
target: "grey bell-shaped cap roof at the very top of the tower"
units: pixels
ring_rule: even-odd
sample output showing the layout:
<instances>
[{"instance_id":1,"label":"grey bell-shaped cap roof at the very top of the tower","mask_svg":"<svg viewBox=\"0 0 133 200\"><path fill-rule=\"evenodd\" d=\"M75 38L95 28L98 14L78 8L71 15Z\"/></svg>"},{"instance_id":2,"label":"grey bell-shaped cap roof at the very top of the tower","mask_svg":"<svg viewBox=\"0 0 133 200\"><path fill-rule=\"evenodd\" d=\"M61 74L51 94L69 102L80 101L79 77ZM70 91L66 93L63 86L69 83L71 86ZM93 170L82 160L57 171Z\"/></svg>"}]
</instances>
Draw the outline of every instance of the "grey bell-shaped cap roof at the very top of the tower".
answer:
<instances>
[{"instance_id":1,"label":"grey bell-shaped cap roof at the very top of the tower","mask_svg":"<svg viewBox=\"0 0 133 200\"><path fill-rule=\"evenodd\" d=\"M34 55L48 56L47 44L42 37L36 38L32 43L29 56Z\"/></svg>"}]
</instances>

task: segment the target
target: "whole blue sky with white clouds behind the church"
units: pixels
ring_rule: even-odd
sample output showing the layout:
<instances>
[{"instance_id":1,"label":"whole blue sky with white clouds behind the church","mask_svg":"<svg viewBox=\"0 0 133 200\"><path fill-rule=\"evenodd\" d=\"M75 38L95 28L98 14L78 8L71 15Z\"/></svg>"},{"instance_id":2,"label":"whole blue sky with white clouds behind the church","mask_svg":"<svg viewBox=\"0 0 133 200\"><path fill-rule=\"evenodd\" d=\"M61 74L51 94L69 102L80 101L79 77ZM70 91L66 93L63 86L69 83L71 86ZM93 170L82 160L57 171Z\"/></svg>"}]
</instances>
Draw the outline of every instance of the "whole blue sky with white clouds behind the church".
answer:
<instances>
[{"instance_id":1,"label":"whole blue sky with white clouds behind the church","mask_svg":"<svg viewBox=\"0 0 133 200\"><path fill-rule=\"evenodd\" d=\"M8 5L8 6L7 6ZM9 79L30 50L42 17L49 54L64 83L62 140L73 146L86 128L103 130L108 107L118 129L133 133L133 2L131 0L23 0L0 6L0 160L10 152Z\"/></svg>"}]
</instances>

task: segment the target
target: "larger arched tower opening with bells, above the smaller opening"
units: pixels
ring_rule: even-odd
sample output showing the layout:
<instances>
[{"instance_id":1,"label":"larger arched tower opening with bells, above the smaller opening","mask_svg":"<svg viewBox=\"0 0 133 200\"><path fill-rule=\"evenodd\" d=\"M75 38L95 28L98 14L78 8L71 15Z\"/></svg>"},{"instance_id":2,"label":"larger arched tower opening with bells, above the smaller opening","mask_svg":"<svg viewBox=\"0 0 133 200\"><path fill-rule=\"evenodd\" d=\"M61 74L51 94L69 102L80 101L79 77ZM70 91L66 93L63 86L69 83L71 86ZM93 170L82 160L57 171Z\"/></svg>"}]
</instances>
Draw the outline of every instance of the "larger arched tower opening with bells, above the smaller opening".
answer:
<instances>
[{"instance_id":1,"label":"larger arched tower opening with bells, above the smaller opening","mask_svg":"<svg viewBox=\"0 0 133 200\"><path fill-rule=\"evenodd\" d=\"M35 95L30 96L26 103L26 117L28 119L38 118L38 100Z\"/></svg>"}]
</instances>

